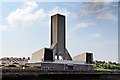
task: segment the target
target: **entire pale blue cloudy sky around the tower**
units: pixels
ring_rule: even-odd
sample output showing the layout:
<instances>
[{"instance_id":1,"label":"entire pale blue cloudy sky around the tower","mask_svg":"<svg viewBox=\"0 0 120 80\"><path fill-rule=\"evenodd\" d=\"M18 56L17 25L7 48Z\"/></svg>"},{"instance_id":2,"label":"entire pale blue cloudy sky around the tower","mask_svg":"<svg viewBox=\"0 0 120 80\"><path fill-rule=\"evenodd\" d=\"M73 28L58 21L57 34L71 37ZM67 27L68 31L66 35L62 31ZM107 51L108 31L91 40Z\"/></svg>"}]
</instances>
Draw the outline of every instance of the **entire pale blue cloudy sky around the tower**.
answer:
<instances>
[{"instance_id":1,"label":"entire pale blue cloudy sky around the tower","mask_svg":"<svg viewBox=\"0 0 120 80\"><path fill-rule=\"evenodd\" d=\"M72 56L92 52L94 60L118 61L117 0L1 1L0 57L31 57L49 48L56 13L66 16L66 47Z\"/></svg>"}]
</instances>

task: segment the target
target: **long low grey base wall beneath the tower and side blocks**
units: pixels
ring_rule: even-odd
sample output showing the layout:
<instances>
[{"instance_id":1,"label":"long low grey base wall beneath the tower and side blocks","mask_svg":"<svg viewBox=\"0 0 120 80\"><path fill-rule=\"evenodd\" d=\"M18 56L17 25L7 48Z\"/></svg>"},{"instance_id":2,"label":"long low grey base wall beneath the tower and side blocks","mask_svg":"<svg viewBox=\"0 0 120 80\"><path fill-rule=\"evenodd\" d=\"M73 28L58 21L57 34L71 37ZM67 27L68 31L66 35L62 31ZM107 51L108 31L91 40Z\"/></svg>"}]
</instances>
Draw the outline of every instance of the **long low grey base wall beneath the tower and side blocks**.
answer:
<instances>
[{"instance_id":1,"label":"long low grey base wall beneath the tower and side blocks","mask_svg":"<svg viewBox=\"0 0 120 80\"><path fill-rule=\"evenodd\" d=\"M52 62L46 62L46 63L28 63L28 66L34 66L39 67L41 69L46 70L93 70L92 65L88 64L64 64L64 63L52 63Z\"/></svg>"}]
</instances>

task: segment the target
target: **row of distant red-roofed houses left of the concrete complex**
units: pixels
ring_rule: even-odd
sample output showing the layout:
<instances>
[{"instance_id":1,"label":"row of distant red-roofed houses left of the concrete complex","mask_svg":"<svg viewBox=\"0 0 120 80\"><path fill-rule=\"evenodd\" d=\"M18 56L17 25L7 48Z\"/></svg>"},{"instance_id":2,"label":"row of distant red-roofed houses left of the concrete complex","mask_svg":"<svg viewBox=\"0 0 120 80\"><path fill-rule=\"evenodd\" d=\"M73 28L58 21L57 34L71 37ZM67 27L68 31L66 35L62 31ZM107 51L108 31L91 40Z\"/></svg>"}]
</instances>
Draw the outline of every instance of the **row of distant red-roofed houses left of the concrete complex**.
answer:
<instances>
[{"instance_id":1,"label":"row of distant red-roofed houses left of the concrete complex","mask_svg":"<svg viewBox=\"0 0 120 80\"><path fill-rule=\"evenodd\" d=\"M30 60L30 58L0 58L0 64L8 64L8 65L12 65L12 64L19 64L19 65L25 65L26 63L28 63L28 60Z\"/></svg>"}]
</instances>

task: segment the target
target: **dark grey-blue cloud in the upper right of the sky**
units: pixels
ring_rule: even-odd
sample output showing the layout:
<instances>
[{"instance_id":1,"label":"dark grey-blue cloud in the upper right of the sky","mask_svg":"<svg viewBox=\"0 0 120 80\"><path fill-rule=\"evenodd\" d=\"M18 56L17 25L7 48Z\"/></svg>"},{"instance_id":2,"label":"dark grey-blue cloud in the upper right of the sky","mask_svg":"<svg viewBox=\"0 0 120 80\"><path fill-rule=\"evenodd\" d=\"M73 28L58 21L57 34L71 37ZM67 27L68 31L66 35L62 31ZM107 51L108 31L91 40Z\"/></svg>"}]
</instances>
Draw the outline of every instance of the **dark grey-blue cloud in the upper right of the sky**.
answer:
<instances>
[{"instance_id":1,"label":"dark grey-blue cloud in the upper right of the sky","mask_svg":"<svg viewBox=\"0 0 120 80\"><path fill-rule=\"evenodd\" d=\"M82 3L78 16L92 17L93 19L115 20L117 18L117 5L109 0L93 0L93 2Z\"/></svg>"}]
</instances>

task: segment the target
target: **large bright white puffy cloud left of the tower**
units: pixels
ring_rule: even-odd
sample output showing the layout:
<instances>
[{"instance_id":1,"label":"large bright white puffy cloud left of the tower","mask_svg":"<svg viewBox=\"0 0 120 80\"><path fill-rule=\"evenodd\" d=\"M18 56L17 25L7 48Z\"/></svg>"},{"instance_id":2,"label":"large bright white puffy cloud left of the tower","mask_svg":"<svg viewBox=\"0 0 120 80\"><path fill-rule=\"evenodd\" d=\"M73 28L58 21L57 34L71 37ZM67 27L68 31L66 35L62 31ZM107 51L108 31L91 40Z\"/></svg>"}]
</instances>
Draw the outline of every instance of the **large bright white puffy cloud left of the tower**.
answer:
<instances>
[{"instance_id":1,"label":"large bright white puffy cloud left of the tower","mask_svg":"<svg viewBox=\"0 0 120 80\"><path fill-rule=\"evenodd\" d=\"M12 26L27 26L46 16L44 9L39 9L38 4L34 1L26 2L22 8L17 8L10 13L7 21Z\"/></svg>"}]
</instances>

